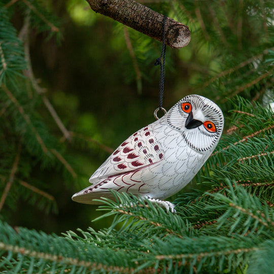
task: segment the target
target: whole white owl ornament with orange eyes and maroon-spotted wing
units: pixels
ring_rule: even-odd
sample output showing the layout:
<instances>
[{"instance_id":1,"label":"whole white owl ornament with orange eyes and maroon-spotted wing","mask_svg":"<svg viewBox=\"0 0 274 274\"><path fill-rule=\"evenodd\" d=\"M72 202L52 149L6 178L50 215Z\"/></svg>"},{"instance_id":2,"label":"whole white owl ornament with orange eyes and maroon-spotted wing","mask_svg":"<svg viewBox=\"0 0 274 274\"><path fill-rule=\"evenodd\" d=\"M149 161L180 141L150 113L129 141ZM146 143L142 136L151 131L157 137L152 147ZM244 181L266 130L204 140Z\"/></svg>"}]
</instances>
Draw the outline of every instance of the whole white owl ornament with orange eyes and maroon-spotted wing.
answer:
<instances>
[{"instance_id":1,"label":"whole white owl ornament with orange eyes and maroon-spotted wing","mask_svg":"<svg viewBox=\"0 0 274 274\"><path fill-rule=\"evenodd\" d=\"M75 193L77 202L110 192L127 192L176 212L164 199L184 188L217 146L224 127L220 108L208 98L188 95L162 118L126 139L90 177L92 184Z\"/></svg>"}]
</instances>

